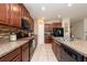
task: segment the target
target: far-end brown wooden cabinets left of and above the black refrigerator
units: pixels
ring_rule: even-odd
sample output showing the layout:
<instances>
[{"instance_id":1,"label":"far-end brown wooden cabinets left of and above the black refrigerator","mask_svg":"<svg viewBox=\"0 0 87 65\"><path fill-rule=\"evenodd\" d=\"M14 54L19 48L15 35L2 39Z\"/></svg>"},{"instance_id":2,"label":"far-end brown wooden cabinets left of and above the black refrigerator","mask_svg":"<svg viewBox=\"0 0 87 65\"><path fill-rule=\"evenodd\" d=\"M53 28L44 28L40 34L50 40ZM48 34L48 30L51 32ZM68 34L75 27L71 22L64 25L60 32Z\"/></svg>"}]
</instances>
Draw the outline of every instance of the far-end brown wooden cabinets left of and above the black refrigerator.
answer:
<instances>
[{"instance_id":1,"label":"far-end brown wooden cabinets left of and above the black refrigerator","mask_svg":"<svg viewBox=\"0 0 87 65\"><path fill-rule=\"evenodd\" d=\"M45 43L52 43L53 28L62 28L62 22L45 23ZM48 33L48 34L47 34Z\"/></svg>"}]
</instances>

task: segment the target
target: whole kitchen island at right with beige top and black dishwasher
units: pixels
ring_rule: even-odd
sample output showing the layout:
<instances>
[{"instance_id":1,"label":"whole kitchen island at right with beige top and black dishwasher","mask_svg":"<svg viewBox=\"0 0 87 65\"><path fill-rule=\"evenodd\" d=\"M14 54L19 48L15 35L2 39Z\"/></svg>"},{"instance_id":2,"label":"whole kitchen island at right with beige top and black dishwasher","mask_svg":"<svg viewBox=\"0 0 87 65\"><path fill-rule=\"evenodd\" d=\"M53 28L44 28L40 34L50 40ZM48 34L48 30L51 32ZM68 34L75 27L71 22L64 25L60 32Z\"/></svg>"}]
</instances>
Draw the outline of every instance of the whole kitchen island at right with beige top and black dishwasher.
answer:
<instances>
[{"instance_id":1,"label":"whole kitchen island at right with beige top and black dishwasher","mask_svg":"<svg viewBox=\"0 0 87 65\"><path fill-rule=\"evenodd\" d=\"M87 61L87 42L83 40L64 41L53 37L53 52L58 61L84 62Z\"/></svg>"}]
</instances>

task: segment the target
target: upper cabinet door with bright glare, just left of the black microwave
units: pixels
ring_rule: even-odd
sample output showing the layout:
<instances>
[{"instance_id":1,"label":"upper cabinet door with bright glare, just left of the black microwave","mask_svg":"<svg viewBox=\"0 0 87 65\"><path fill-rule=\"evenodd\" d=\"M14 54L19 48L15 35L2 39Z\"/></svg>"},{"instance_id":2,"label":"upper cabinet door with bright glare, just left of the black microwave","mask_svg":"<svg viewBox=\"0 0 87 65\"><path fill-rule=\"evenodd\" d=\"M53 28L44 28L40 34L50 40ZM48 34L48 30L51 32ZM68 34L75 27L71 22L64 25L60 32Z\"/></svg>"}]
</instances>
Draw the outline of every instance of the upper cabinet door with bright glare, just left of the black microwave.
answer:
<instances>
[{"instance_id":1,"label":"upper cabinet door with bright glare, just left of the black microwave","mask_svg":"<svg viewBox=\"0 0 87 65\"><path fill-rule=\"evenodd\" d=\"M21 28L21 8L18 3L10 4L10 23L12 26Z\"/></svg>"}]
</instances>

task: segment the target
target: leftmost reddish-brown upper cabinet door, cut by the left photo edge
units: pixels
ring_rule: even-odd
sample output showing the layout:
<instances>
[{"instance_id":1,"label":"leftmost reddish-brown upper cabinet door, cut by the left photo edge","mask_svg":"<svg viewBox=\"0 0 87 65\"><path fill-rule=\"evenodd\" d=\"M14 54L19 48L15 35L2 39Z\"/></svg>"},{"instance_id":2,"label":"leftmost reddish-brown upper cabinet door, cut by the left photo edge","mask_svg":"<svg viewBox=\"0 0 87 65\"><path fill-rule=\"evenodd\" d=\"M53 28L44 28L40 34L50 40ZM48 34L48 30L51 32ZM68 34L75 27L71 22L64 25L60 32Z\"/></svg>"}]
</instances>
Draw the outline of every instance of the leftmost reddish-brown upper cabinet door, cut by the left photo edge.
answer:
<instances>
[{"instance_id":1,"label":"leftmost reddish-brown upper cabinet door, cut by the left photo edge","mask_svg":"<svg viewBox=\"0 0 87 65\"><path fill-rule=\"evenodd\" d=\"M8 3L0 3L0 23L1 24L9 24L9 4Z\"/></svg>"}]
</instances>

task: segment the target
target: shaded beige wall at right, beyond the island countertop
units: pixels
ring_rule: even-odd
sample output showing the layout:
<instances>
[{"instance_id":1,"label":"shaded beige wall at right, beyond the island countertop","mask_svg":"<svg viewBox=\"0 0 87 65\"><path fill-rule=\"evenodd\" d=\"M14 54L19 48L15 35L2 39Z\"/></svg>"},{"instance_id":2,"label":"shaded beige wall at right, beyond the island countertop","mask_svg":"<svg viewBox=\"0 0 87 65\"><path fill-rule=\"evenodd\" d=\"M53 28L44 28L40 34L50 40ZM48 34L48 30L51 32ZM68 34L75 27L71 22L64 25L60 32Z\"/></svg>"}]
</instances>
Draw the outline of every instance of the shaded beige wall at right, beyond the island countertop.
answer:
<instances>
[{"instance_id":1,"label":"shaded beige wall at right, beyond the island countertop","mask_svg":"<svg viewBox=\"0 0 87 65\"><path fill-rule=\"evenodd\" d=\"M84 22L72 22L72 34L76 37L84 40Z\"/></svg>"}]
</instances>

